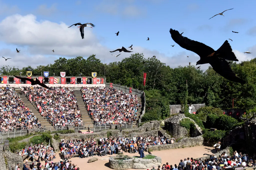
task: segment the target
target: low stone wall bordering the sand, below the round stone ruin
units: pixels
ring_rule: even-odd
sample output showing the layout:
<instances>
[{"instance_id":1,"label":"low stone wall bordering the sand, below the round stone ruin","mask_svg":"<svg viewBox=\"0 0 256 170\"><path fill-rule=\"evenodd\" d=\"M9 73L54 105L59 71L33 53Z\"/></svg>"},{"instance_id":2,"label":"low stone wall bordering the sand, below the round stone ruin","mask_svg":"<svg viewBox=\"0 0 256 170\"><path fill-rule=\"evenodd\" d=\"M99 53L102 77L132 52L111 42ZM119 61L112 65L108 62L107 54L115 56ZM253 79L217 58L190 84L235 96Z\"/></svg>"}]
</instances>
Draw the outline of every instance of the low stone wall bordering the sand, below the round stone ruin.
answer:
<instances>
[{"instance_id":1,"label":"low stone wall bordering the sand, below the round stone ruin","mask_svg":"<svg viewBox=\"0 0 256 170\"><path fill-rule=\"evenodd\" d=\"M202 136L197 136L194 138L185 137L178 142L174 142L173 144L166 145L151 145L148 147L149 151L157 151L157 150L167 150L167 149L176 149L176 148L185 148L185 147L193 147L203 145L204 138Z\"/></svg>"}]
</instances>

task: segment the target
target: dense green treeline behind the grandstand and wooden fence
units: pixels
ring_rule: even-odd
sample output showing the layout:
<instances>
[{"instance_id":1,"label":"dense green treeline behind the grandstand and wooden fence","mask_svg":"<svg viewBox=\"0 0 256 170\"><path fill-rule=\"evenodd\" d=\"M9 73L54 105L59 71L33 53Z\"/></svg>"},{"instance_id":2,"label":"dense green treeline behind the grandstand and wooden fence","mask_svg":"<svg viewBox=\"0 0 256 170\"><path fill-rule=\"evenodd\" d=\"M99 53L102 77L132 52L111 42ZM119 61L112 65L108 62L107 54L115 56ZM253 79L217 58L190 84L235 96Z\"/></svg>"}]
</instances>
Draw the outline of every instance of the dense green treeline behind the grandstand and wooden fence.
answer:
<instances>
[{"instance_id":1,"label":"dense green treeline behind the grandstand and wooden fence","mask_svg":"<svg viewBox=\"0 0 256 170\"><path fill-rule=\"evenodd\" d=\"M144 62L145 63L144 63ZM132 54L120 62L103 64L95 55L87 59L76 57L72 59L59 58L55 63L47 66L30 66L22 69L2 67L2 75L18 75L31 69L33 76L41 76L41 72L49 71L50 76L59 75L61 71L66 76L91 76L91 72L97 72L97 76L106 76L106 82L126 85L142 90L143 72L147 73L146 86L146 107L147 112L157 114L157 119L168 116L169 104L181 104L186 100L188 104L206 103L207 106L221 109L234 108L246 109L256 112L256 58L244 61L240 64L230 63L232 70L247 83L230 82L217 74L211 67L205 72L196 69L195 66L178 66L170 68L158 59L147 58L143 54ZM186 86L187 80L187 86ZM188 89L188 94L186 90Z\"/></svg>"}]
</instances>

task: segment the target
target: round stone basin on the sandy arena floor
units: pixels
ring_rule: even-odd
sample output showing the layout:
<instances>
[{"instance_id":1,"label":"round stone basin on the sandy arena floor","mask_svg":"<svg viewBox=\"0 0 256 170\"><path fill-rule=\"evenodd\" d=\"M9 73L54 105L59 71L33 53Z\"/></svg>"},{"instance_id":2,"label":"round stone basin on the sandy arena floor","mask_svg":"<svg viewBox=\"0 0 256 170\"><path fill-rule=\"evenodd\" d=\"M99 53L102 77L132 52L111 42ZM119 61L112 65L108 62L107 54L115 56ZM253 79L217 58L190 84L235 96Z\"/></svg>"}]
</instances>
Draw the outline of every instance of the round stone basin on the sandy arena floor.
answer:
<instances>
[{"instance_id":1,"label":"round stone basin on the sandy arena floor","mask_svg":"<svg viewBox=\"0 0 256 170\"><path fill-rule=\"evenodd\" d=\"M133 160L132 156L112 156L109 158L109 167L112 169L131 169Z\"/></svg>"}]
</instances>

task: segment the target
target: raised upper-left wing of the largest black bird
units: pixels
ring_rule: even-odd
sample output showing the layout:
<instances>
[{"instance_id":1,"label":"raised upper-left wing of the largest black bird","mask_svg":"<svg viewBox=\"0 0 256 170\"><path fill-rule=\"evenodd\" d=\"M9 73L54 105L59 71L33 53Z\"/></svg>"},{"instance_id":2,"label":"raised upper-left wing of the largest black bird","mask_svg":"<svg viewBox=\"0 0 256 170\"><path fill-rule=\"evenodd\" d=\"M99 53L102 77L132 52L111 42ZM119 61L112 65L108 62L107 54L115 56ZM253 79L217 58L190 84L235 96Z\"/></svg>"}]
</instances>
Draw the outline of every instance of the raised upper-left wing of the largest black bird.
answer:
<instances>
[{"instance_id":1,"label":"raised upper-left wing of the largest black bird","mask_svg":"<svg viewBox=\"0 0 256 170\"><path fill-rule=\"evenodd\" d=\"M215 52L214 49L203 43L190 40L189 38L180 35L180 33L176 30L170 29L170 34L173 38L173 41L175 41L179 46L189 51L193 51L194 53L198 54L200 58L207 57L208 55Z\"/></svg>"}]
</instances>

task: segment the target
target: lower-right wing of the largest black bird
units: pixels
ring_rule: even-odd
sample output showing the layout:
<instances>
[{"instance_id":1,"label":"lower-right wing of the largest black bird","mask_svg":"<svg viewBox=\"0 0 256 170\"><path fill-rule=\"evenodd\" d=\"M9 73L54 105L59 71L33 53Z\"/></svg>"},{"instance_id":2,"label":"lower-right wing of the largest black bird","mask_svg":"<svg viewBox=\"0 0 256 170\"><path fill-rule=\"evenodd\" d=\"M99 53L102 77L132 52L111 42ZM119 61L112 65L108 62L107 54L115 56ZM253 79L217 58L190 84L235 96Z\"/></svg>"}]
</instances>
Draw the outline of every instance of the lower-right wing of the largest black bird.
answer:
<instances>
[{"instance_id":1,"label":"lower-right wing of the largest black bird","mask_svg":"<svg viewBox=\"0 0 256 170\"><path fill-rule=\"evenodd\" d=\"M246 83L244 80L240 79L240 77L236 76L226 60L217 58L209 63L211 64L212 69L214 69L219 75L221 75L225 79L241 84Z\"/></svg>"}]
</instances>

